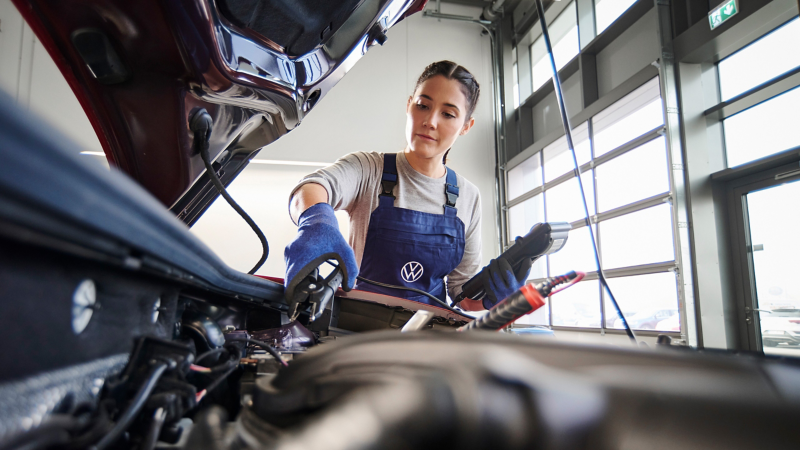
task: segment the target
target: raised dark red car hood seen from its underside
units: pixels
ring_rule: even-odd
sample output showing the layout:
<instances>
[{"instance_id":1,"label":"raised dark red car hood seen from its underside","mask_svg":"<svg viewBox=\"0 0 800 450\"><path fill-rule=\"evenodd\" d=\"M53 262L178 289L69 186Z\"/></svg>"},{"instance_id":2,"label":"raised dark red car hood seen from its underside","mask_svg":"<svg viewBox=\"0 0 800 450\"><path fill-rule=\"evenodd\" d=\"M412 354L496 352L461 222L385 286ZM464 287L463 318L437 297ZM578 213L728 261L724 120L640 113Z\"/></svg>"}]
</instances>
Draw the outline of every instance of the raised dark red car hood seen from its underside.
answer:
<instances>
[{"instance_id":1,"label":"raised dark red car hood seen from its underside","mask_svg":"<svg viewBox=\"0 0 800 450\"><path fill-rule=\"evenodd\" d=\"M213 118L229 184L296 128L367 49L427 0L12 0L61 70L111 165L191 225L218 195L189 118Z\"/></svg>"}]
</instances>

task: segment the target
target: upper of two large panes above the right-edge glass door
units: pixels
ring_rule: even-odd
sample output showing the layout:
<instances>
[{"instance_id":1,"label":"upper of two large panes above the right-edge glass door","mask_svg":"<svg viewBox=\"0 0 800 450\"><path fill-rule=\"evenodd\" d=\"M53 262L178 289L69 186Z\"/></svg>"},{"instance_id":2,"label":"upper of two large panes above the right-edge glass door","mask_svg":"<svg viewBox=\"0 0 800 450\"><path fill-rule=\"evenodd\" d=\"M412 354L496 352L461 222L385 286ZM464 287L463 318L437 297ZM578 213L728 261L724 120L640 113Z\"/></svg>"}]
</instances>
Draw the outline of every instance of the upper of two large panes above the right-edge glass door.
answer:
<instances>
[{"instance_id":1,"label":"upper of two large panes above the right-edge glass door","mask_svg":"<svg viewBox=\"0 0 800 450\"><path fill-rule=\"evenodd\" d=\"M794 19L719 62L722 101L800 66L800 19ZM788 46L788 47L787 47Z\"/></svg>"}]
</instances>

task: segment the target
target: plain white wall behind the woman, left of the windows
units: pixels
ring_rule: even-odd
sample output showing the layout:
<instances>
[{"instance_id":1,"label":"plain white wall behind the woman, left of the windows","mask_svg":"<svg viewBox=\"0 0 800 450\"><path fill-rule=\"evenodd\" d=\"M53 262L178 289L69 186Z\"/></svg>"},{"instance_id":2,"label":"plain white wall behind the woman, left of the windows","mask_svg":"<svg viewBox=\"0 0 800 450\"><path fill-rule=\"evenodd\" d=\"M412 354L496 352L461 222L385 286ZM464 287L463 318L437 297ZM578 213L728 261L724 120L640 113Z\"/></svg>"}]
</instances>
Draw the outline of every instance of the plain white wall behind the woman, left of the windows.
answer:
<instances>
[{"instance_id":1,"label":"plain white wall behind the woman, left of the windows","mask_svg":"<svg viewBox=\"0 0 800 450\"><path fill-rule=\"evenodd\" d=\"M448 14L477 17L480 9L442 5ZM405 106L414 83L428 64L450 59L481 85L475 127L459 138L450 166L473 182L483 199L483 258L497 255L494 208L494 126L491 47L478 25L437 21L414 15L389 30L383 47L373 47L315 107L296 130L265 147L258 159L334 162L355 151L396 152L405 147ZM309 166L250 164L231 184L231 195L264 229L272 247L259 274L283 277L283 249L296 227L287 213L291 188ZM346 216L340 217L340 223ZM224 261L247 271L258 260L260 245L236 213L218 200L193 227ZM346 236L347 229L342 229Z\"/></svg>"}]
</instances>

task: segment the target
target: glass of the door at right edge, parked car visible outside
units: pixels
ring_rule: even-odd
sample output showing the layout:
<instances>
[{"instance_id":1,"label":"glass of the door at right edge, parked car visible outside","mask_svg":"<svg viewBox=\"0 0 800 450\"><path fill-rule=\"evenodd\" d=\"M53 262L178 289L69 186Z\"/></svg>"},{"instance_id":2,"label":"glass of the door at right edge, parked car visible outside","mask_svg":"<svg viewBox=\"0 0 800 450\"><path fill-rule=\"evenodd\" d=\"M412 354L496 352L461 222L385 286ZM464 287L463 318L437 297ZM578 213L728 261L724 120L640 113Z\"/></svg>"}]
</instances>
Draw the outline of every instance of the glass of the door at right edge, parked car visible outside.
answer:
<instances>
[{"instance_id":1,"label":"glass of the door at right edge, parked car visible outside","mask_svg":"<svg viewBox=\"0 0 800 450\"><path fill-rule=\"evenodd\" d=\"M758 322L765 354L800 357L800 180L744 197L754 285L749 317Z\"/></svg>"}]
</instances>

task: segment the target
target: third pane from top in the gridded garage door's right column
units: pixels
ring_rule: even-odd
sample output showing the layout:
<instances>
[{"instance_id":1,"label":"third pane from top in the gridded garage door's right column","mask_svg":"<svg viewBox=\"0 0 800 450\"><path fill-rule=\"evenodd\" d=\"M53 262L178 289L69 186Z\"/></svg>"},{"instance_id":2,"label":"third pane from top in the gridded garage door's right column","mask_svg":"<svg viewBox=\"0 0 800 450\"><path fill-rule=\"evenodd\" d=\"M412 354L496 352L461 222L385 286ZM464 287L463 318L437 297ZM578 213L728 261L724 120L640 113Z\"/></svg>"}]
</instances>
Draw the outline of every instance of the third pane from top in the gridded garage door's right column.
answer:
<instances>
[{"instance_id":1,"label":"third pane from top in the gridded garage door's right column","mask_svg":"<svg viewBox=\"0 0 800 450\"><path fill-rule=\"evenodd\" d=\"M615 217L599 226L604 269L675 259L669 204Z\"/></svg>"}]
</instances>

